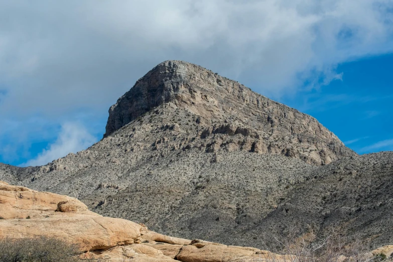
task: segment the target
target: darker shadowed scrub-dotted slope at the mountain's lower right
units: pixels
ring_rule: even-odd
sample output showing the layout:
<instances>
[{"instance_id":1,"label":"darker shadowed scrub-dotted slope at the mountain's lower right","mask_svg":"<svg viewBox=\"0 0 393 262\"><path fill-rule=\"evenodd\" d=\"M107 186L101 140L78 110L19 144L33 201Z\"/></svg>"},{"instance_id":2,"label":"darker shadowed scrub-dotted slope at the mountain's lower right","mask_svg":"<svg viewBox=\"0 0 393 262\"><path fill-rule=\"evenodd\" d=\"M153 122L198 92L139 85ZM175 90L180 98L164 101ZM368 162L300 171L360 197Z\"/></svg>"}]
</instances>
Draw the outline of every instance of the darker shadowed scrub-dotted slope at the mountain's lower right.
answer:
<instances>
[{"instance_id":1,"label":"darker shadowed scrub-dotted slope at the mountain's lower right","mask_svg":"<svg viewBox=\"0 0 393 262\"><path fill-rule=\"evenodd\" d=\"M294 186L254 233L296 224L325 236L342 232L370 248L393 242L393 152L344 158L305 175L309 180Z\"/></svg>"}]
</instances>

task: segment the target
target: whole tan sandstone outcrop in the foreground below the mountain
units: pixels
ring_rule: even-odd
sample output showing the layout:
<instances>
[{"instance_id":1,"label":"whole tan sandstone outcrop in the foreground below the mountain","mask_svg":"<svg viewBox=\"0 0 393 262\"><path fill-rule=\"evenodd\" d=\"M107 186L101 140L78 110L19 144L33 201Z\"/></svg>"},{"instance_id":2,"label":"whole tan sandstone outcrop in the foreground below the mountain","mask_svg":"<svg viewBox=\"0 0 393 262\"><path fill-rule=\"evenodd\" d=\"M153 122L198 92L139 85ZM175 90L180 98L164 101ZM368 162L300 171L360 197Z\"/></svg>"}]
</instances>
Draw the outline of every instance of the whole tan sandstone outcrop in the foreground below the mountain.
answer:
<instances>
[{"instance_id":1,"label":"whole tan sandstone outcrop in the foreground below the mountain","mask_svg":"<svg viewBox=\"0 0 393 262\"><path fill-rule=\"evenodd\" d=\"M252 247L228 247L162 235L132 221L88 211L75 198L11 186L2 181L0 215L0 238L59 237L77 244L84 258L233 261L269 253Z\"/></svg>"}]
</instances>

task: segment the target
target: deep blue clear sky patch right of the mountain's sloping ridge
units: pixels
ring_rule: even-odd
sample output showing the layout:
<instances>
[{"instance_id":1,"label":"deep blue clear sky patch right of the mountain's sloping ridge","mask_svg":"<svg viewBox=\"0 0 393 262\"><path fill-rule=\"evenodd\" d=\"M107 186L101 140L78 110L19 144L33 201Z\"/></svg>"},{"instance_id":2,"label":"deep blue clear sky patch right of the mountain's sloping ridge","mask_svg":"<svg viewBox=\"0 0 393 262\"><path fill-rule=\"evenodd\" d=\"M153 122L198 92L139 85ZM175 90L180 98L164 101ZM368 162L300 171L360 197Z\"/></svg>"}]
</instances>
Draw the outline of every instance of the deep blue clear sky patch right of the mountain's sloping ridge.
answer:
<instances>
[{"instance_id":1,"label":"deep blue clear sky patch right of the mountain's sloping ridge","mask_svg":"<svg viewBox=\"0 0 393 262\"><path fill-rule=\"evenodd\" d=\"M358 154L393 150L393 55L343 63L342 80L281 102L317 118Z\"/></svg>"}]
</instances>

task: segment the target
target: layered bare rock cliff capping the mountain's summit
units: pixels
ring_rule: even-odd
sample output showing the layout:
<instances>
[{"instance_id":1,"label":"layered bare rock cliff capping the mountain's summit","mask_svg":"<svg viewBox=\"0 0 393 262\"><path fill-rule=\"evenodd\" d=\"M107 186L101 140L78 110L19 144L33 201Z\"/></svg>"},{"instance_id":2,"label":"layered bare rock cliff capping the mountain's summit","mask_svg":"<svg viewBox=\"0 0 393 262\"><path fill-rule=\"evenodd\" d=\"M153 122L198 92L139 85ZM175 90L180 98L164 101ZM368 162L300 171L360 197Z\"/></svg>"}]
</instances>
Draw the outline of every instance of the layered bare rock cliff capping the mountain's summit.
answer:
<instances>
[{"instance_id":1,"label":"layered bare rock cliff capping the mountain's summit","mask_svg":"<svg viewBox=\"0 0 393 262\"><path fill-rule=\"evenodd\" d=\"M153 68L109 109L104 137L163 104L189 111L203 136L242 134L245 150L283 154L315 165L355 155L310 115L259 95L236 81L183 61Z\"/></svg>"}]
</instances>

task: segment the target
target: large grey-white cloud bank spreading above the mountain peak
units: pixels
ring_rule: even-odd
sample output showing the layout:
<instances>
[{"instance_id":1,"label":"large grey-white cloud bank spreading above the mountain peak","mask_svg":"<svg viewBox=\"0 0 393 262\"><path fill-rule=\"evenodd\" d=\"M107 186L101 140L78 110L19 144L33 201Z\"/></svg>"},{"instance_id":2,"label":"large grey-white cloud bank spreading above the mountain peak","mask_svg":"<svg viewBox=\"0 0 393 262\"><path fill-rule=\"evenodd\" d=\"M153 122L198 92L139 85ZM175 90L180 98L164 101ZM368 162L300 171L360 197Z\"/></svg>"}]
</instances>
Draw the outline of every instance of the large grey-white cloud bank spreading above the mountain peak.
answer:
<instances>
[{"instance_id":1,"label":"large grey-white cloud bank spreading above the mountain peak","mask_svg":"<svg viewBox=\"0 0 393 262\"><path fill-rule=\"evenodd\" d=\"M0 126L36 129L25 124L35 117L92 129L91 115L168 59L272 98L318 87L342 77L339 63L393 51L392 10L391 0L0 0Z\"/></svg>"}]
</instances>

